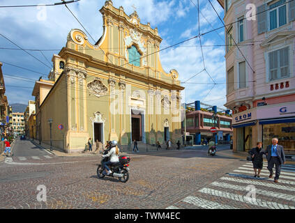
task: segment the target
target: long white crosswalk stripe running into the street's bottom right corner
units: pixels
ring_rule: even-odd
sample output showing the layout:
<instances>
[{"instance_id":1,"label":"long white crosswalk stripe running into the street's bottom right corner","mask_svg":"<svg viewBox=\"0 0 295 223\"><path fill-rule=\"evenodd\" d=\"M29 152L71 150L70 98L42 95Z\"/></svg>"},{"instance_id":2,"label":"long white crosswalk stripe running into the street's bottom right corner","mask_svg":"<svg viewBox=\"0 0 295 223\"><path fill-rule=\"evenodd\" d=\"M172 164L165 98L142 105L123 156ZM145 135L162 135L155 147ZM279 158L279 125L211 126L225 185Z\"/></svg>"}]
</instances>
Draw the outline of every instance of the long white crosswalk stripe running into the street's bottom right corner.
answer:
<instances>
[{"instance_id":1,"label":"long white crosswalk stripe running into the street's bottom right corner","mask_svg":"<svg viewBox=\"0 0 295 223\"><path fill-rule=\"evenodd\" d=\"M273 202L273 201L264 201L262 199L251 199L249 197L242 196L242 195L239 195L239 194L232 194L232 193L223 192L223 191L220 191L220 190L213 190L213 189L207 188L207 187L199 190L199 192L202 192L204 194L210 194L210 195L217 196L217 197L224 197L226 199L231 199L231 200L234 200L234 201L241 201L242 203L250 203L250 204L255 205L255 206L261 206L263 208L295 209L294 206L287 206L287 205L284 205L282 203L276 203L276 202Z\"/></svg>"}]
</instances>

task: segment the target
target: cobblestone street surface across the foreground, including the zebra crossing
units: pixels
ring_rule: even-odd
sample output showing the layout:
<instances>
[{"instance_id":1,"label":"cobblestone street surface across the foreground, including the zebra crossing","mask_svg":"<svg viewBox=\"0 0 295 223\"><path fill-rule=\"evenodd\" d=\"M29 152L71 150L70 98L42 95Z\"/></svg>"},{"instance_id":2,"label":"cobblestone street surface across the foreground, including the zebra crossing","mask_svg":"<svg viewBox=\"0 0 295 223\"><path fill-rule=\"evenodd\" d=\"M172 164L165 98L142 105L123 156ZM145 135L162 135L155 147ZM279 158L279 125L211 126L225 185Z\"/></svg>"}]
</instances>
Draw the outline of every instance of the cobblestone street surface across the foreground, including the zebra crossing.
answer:
<instances>
[{"instance_id":1,"label":"cobblestone street surface across the foreground, including the zebra crossing","mask_svg":"<svg viewBox=\"0 0 295 223\"><path fill-rule=\"evenodd\" d=\"M7 157L0 163L0 208L294 208L295 172L280 183L251 178L246 161L206 151L130 154L130 178L98 178L100 157ZM289 169L288 169L289 168ZM266 166L264 165L264 169ZM37 201L45 185L47 201ZM257 189L248 201L246 187ZM271 194L275 192L274 194Z\"/></svg>"}]
</instances>

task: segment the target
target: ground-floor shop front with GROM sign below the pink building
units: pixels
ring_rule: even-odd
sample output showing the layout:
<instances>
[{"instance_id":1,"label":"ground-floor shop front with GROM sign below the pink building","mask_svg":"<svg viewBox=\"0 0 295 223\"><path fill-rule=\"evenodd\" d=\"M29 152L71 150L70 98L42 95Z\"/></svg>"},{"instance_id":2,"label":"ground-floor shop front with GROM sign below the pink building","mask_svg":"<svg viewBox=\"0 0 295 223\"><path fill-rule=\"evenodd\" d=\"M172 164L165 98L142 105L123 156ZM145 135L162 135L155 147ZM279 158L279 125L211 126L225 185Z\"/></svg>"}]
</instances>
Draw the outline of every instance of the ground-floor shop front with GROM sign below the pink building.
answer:
<instances>
[{"instance_id":1,"label":"ground-floor shop front with GROM sign below the pink building","mask_svg":"<svg viewBox=\"0 0 295 223\"><path fill-rule=\"evenodd\" d=\"M233 114L234 151L249 151L257 141L263 147L278 138L285 151L295 152L295 102L265 105Z\"/></svg>"}]
</instances>

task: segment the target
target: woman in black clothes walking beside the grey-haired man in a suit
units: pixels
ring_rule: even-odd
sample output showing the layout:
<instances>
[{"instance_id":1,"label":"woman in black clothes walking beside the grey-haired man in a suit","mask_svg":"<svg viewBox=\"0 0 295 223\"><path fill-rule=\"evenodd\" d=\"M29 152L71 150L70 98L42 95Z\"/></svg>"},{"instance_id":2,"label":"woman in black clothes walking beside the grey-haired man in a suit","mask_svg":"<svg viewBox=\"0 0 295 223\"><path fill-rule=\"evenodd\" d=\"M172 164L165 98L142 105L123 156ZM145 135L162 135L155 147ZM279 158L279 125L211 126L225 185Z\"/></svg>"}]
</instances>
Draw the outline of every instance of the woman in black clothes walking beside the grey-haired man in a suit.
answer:
<instances>
[{"instance_id":1,"label":"woman in black clothes walking beside the grey-haired man in a suit","mask_svg":"<svg viewBox=\"0 0 295 223\"><path fill-rule=\"evenodd\" d=\"M257 141L257 146L252 148L249 152L252 157L253 169L254 169L254 177L259 178L260 172L262 171L263 167L263 155L265 154L264 149L262 148L262 141ZM257 174L258 169L258 174Z\"/></svg>"}]
</instances>

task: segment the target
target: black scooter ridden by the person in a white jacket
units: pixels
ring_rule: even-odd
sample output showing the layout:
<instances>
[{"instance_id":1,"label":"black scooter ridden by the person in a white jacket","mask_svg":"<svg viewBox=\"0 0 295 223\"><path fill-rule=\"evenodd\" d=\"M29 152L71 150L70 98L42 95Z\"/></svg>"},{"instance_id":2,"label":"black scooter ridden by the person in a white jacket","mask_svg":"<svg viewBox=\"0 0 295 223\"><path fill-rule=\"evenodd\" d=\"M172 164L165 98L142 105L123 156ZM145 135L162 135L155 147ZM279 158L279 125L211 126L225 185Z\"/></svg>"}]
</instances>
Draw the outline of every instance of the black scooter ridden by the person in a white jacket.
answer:
<instances>
[{"instance_id":1,"label":"black scooter ridden by the person in a white jacket","mask_svg":"<svg viewBox=\"0 0 295 223\"><path fill-rule=\"evenodd\" d=\"M103 155L106 155L109 150L103 151ZM126 155L119 156L119 162L112 164L109 166L109 169L112 171L112 174L107 175L105 171L105 167L103 165L104 162L107 162L109 157L103 157L98 165L97 174L99 178L104 178L105 176L112 176L119 178L119 180L123 183L126 183L129 179L129 162L130 157Z\"/></svg>"}]
</instances>

